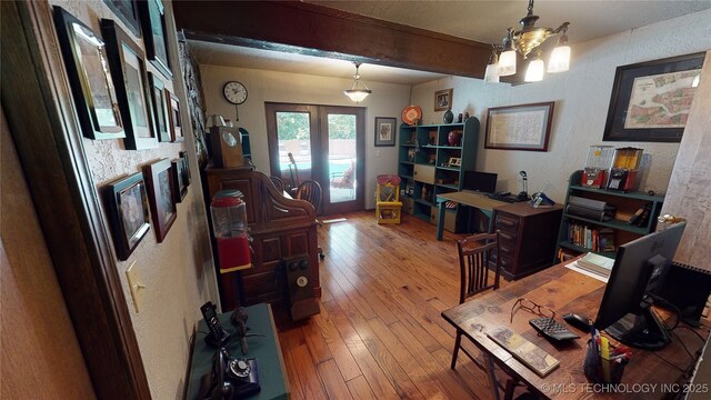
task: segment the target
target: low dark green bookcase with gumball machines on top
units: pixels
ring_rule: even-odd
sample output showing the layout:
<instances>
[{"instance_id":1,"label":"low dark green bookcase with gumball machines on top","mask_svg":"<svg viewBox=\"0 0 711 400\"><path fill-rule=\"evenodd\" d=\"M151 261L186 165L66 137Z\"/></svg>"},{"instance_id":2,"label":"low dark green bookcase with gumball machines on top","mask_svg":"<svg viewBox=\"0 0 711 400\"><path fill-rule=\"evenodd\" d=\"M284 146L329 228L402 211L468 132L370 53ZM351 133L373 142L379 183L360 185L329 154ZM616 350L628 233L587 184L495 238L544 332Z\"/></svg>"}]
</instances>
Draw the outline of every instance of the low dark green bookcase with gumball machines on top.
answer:
<instances>
[{"instance_id":1,"label":"low dark green bookcase with gumball machines on top","mask_svg":"<svg viewBox=\"0 0 711 400\"><path fill-rule=\"evenodd\" d=\"M604 249L595 249L594 252L611 258L614 258L618 246L632 241L655 230L657 218L659 217L664 202L663 197L650 196L643 192L623 192L583 187L580 184L580 177L583 171L575 171L570 176L568 193L565 194L565 209L563 210L563 218L558 233L558 248L555 250L557 260L560 258L560 250L573 256L593 251L593 249L588 246L571 242L569 232L569 227L571 226L588 227L590 232L597 231L598 237L600 236L600 231L603 230L605 239L612 240L614 247L607 251ZM604 201L608 204L614 206L617 208L614 218L610 221L597 221L594 219L570 214L567 212L570 196ZM630 224L628 222L630 217L645 204L651 206L650 214L645 224L641 227ZM580 232L578 232L578 234L580 234ZM584 233L582 234L584 237Z\"/></svg>"}]
</instances>

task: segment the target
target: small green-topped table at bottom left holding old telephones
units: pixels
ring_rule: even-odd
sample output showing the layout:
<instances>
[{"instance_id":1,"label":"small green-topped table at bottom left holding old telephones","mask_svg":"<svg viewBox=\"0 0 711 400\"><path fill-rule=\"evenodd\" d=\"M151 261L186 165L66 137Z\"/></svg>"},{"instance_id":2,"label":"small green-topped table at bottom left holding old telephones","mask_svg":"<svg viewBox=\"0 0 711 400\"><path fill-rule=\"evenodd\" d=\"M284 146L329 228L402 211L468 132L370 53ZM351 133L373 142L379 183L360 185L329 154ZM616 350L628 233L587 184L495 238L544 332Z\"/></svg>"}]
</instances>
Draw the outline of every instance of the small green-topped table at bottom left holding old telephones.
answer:
<instances>
[{"instance_id":1,"label":"small green-topped table at bottom left holding old telephones","mask_svg":"<svg viewBox=\"0 0 711 400\"><path fill-rule=\"evenodd\" d=\"M260 303L247 307L247 327L249 333L261 333L264 337L248 337L247 346L249 353L247 358L257 358L257 368L259 370L259 384L262 390L247 399L289 399L289 380L284 370L284 361L281 357L281 348L279 347L279 338L274 319L271 313L271 306ZM237 329L230 322L232 312L224 312L219 316L222 328L230 334L229 351L232 357L243 357L240 350L240 343L236 340L234 332ZM198 323L196 330L196 342L192 348L192 360L190 364L190 377L188 379L188 400L198 399L200 393L200 379L212 370L212 356L217 351L216 348L209 347L204 342L208 327L204 320Z\"/></svg>"}]
</instances>

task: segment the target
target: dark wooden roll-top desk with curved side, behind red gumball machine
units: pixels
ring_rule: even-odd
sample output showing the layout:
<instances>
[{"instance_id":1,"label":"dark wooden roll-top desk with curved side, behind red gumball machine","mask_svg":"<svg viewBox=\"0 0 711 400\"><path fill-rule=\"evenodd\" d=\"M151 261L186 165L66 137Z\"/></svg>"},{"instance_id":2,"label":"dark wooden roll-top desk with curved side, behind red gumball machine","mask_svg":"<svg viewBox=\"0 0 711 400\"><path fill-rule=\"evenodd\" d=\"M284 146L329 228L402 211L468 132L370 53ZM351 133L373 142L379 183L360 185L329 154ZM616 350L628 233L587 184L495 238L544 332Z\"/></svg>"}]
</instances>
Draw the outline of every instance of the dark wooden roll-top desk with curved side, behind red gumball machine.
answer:
<instances>
[{"instance_id":1,"label":"dark wooden roll-top desk with curved side, behind red gumball machine","mask_svg":"<svg viewBox=\"0 0 711 400\"><path fill-rule=\"evenodd\" d=\"M313 294L320 297L317 220L313 207L303 200L286 198L269 177L251 167L208 166L202 178L208 219L210 220L209 207L214 193L220 190L239 190L244 196L249 233L253 239L252 267L249 269L220 273L216 257L222 309L232 310L238 306L260 302L282 303L287 300L282 263L284 259L294 256L308 257ZM214 239L212 242L214 252Z\"/></svg>"}]
</instances>

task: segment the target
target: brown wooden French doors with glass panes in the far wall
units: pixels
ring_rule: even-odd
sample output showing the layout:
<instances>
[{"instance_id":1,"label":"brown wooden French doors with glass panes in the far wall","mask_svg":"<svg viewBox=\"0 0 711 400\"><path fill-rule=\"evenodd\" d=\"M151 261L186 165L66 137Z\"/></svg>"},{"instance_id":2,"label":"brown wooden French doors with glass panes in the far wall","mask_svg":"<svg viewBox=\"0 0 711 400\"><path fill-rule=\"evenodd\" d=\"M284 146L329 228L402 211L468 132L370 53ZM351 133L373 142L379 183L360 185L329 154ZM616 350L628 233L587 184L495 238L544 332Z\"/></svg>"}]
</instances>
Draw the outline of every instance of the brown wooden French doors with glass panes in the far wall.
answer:
<instances>
[{"instance_id":1,"label":"brown wooden French doors with glass panes in the far wall","mask_svg":"<svg viewBox=\"0 0 711 400\"><path fill-rule=\"evenodd\" d=\"M321 186L320 214L364 209L365 109L316 104L264 104L271 174L289 186ZM289 168L289 153L298 178Z\"/></svg>"}]
</instances>

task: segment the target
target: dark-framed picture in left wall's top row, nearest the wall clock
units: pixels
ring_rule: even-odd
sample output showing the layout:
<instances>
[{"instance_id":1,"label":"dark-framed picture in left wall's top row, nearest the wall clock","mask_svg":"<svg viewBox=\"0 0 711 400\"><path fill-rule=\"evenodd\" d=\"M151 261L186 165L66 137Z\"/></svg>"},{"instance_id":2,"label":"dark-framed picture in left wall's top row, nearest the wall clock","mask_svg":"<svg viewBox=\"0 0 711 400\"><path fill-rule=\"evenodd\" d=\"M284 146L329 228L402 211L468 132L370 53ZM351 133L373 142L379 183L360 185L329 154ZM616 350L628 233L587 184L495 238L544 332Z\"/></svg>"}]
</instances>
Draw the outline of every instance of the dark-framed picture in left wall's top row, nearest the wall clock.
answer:
<instances>
[{"instance_id":1,"label":"dark-framed picture in left wall's top row, nearest the wall clock","mask_svg":"<svg viewBox=\"0 0 711 400\"><path fill-rule=\"evenodd\" d=\"M172 79L166 40L166 10L160 0L139 1L141 24L143 26L143 43L148 60L167 78Z\"/></svg>"}]
</instances>

